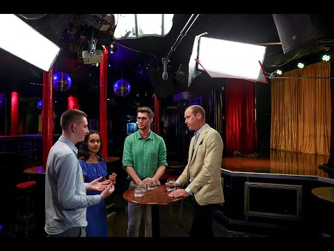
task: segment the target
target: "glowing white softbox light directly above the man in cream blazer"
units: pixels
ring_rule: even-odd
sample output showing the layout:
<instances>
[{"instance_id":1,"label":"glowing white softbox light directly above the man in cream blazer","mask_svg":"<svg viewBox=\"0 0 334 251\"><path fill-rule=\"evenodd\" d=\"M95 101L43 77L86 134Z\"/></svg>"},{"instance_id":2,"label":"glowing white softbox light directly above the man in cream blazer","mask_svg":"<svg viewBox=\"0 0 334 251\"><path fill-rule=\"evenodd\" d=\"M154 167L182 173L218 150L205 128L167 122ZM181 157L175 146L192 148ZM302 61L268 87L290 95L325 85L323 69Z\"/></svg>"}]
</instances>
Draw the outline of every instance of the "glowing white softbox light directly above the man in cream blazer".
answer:
<instances>
[{"instance_id":1,"label":"glowing white softbox light directly above the man in cream blazer","mask_svg":"<svg viewBox=\"0 0 334 251\"><path fill-rule=\"evenodd\" d=\"M267 83L262 63L266 47L196 36L189 61L189 81L200 71L210 77L246 79ZM195 61L195 63L193 63Z\"/></svg>"}]
</instances>

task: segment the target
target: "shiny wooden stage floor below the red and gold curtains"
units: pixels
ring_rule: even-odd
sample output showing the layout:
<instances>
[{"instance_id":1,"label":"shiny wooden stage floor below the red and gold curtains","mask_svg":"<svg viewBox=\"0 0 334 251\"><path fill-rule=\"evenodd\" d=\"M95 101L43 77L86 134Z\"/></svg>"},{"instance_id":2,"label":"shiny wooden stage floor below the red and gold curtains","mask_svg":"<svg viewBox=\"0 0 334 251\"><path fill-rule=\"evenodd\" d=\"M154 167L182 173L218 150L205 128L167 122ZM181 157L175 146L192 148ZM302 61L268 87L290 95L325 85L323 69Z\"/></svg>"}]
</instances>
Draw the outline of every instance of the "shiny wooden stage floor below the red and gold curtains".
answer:
<instances>
[{"instance_id":1,"label":"shiny wooden stage floor below the red and gold curtains","mask_svg":"<svg viewBox=\"0 0 334 251\"><path fill-rule=\"evenodd\" d=\"M313 155L289 151L270 150L256 155L234 152L223 157L222 168L231 172L254 172L266 174L289 174L329 178L327 172L318 168L327 163L329 155Z\"/></svg>"}]
</instances>

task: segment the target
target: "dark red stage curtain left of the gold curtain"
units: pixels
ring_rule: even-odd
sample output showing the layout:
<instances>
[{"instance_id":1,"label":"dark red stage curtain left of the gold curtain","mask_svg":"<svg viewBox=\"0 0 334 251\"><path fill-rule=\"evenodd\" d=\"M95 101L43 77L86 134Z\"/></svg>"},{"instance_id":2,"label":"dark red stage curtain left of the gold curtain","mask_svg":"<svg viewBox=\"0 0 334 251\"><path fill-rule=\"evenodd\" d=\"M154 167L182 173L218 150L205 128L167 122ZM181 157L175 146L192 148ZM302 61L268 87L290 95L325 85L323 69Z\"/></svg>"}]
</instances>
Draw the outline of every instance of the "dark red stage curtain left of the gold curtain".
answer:
<instances>
[{"instance_id":1,"label":"dark red stage curtain left of the gold curtain","mask_svg":"<svg viewBox=\"0 0 334 251\"><path fill-rule=\"evenodd\" d=\"M225 89L225 151L255 153L256 135L255 82L227 79Z\"/></svg>"}]
</instances>

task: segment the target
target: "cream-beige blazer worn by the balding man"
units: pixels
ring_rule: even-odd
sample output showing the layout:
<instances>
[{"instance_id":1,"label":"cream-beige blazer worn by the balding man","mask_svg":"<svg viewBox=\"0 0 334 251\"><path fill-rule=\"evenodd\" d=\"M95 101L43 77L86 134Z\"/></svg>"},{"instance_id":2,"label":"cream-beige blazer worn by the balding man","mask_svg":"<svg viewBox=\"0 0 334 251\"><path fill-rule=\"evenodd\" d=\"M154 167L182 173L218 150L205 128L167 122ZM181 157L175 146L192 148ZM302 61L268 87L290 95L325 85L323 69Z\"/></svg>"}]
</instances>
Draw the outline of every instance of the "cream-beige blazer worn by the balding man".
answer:
<instances>
[{"instance_id":1,"label":"cream-beige blazer worn by the balding man","mask_svg":"<svg viewBox=\"0 0 334 251\"><path fill-rule=\"evenodd\" d=\"M223 188L221 186L221 158L223 157L223 140L221 135L205 125L198 137L195 149L195 136L189 146L188 164L177 179L182 185L186 184L189 169L191 183L188 188L195 195L201 206L223 203Z\"/></svg>"}]
</instances>

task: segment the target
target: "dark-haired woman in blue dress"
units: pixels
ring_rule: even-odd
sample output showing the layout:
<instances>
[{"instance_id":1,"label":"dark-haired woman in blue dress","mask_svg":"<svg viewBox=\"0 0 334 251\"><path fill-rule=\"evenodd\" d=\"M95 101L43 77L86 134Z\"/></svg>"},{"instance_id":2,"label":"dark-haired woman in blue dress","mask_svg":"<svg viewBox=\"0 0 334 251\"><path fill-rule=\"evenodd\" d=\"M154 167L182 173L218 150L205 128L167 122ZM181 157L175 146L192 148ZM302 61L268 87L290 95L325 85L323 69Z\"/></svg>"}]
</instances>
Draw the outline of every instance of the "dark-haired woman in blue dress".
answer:
<instances>
[{"instance_id":1,"label":"dark-haired woman in blue dress","mask_svg":"<svg viewBox=\"0 0 334 251\"><path fill-rule=\"evenodd\" d=\"M106 180L106 162L101 153L100 132L90 130L85 136L84 142L79 146L78 158L84 174L84 182L90 182L95 178ZM109 182L115 183L116 174L109 175ZM101 191L87 191L87 195L99 195ZM107 237L107 220L106 220L106 200L102 199L99 204L88 206L87 216L88 225L86 227L86 237Z\"/></svg>"}]
</instances>

